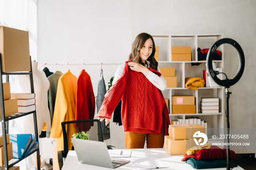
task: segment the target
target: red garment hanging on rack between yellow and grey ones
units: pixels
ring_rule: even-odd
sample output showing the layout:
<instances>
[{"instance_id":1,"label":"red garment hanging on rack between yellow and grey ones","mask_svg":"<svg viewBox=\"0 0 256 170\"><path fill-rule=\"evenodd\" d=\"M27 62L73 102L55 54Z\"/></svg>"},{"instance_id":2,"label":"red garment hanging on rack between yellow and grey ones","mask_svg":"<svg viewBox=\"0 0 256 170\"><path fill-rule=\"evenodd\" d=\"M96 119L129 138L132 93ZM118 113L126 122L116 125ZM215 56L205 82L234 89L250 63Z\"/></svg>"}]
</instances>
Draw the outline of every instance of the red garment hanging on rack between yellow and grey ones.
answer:
<instances>
[{"instance_id":1,"label":"red garment hanging on rack between yellow and grey ones","mask_svg":"<svg viewBox=\"0 0 256 170\"><path fill-rule=\"evenodd\" d=\"M75 120L93 119L95 113L95 97L91 77L83 69L76 81L76 116ZM87 132L93 122L75 123L79 131Z\"/></svg>"}]
</instances>

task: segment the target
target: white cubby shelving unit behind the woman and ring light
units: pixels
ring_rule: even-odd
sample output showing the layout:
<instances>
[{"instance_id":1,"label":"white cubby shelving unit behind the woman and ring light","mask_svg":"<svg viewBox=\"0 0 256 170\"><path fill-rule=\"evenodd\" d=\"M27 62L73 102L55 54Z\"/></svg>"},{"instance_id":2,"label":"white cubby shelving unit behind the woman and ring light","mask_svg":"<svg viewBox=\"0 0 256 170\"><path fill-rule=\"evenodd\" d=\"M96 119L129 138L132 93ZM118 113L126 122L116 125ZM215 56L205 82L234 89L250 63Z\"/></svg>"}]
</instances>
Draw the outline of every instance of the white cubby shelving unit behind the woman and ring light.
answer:
<instances>
[{"instance_id":1,"label":"white cubby shelving unit behind the woman and ring light","mask_svg":"<svg viewBox=\"0 0 256 170\"><path fill-rule=\"evenodd\" d=\"M163 91L163 96L169 98L169 116L171 119L181 117L199 117L207 121L208 128L224 128L225 123L225 89L223 87L204 87L192 90L185 88L186 77L202 77L203 70L206 70L206 61L198 61L197 48L209 49L211 45L223 38L222 34L216 35L153 35L155 45L159 46L158 67L175 67L177 76L177 88L167 88ZM192 61L172 61L172 46L191 46ZM218 49L222 53L221 61L214 61L216 67L223 68L223 45ZM196 66L192 63L200 63ZM224 69L224 68L223 68ZM172 96L193 95L196 98L196 114L172 114ZM202 97L218 97L219 113L203 114L200 113L200 101Z\"/></svg>"}]
</instances>

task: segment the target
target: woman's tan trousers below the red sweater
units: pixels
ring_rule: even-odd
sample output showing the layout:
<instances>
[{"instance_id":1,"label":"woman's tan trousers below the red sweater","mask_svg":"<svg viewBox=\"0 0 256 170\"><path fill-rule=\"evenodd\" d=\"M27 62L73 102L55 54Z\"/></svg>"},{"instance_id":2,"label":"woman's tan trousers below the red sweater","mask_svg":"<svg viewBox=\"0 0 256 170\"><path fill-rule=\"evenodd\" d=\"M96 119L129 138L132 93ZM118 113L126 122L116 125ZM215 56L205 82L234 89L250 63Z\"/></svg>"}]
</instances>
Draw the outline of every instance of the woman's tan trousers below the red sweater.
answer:
<instances>
[{"instance_id":1,"label":"woman's tan trousers below the red sweater","mask_svg":"<svg viewBox=\"0 0 256 170\"><path fill-rule=\"evenodd\" d=\"M127 149L144 148L146 139L147 148L163 148L164 138L165 132L163 128L161 134L125 132L125 146Z\"/></svg>"}]
</instances>

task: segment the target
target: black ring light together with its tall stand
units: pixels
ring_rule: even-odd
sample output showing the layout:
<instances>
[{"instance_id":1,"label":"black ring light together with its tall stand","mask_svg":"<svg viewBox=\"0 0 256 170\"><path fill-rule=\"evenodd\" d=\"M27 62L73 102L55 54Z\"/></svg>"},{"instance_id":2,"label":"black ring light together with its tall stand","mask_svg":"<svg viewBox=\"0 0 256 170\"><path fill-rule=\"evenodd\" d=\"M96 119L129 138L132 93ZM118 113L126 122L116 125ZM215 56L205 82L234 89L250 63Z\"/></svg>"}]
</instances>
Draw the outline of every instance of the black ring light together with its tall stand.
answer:
<instances>
[{"instance_id":1,"label":"black ring light together with its tall stand","mask_svg":"<svg viewBox=\"0 0 256 170\"><path fill-rule=\"evenodd\" d=\"M224 43L228 43L228 44L232 45L233 47L235 47L236 50L237 50L238 56L239 56L239 69L237 71L236 76L231 80L228 79L227 77L226 77L226 80L219 80L219 78L217 77L219 72L213 70L213 68L212 68L212 59L214 57L214 52L220 45L222 45ZM229 128L230 128L230 126L229 126L229 94L231 94L231 92L229 92L229 90L227 88L230 88L230 86L236 84L236 82L238 82L238 80L241 78L242 73L244 72L244 65L245 65L244 52L243 52L241 46L235 40L230 39L230 38L223 38L223 39L220 39L220 40L216 41L210 47L210 49L207 53L207 57L206 57L207 72L209 73L211 78L218 85L224 86L225 89L226 89L225 97L226 97L227 135L229 135ZM225 73L222 73L222 74L225 74ZM229 138L227 138L227 143L229 143ZM233 167L230 168L230 164L229 164L229 145L227 146L227 149L226 149L226 156L227 156L227 170L231 170Z\"/></svg>"}]
</instances>

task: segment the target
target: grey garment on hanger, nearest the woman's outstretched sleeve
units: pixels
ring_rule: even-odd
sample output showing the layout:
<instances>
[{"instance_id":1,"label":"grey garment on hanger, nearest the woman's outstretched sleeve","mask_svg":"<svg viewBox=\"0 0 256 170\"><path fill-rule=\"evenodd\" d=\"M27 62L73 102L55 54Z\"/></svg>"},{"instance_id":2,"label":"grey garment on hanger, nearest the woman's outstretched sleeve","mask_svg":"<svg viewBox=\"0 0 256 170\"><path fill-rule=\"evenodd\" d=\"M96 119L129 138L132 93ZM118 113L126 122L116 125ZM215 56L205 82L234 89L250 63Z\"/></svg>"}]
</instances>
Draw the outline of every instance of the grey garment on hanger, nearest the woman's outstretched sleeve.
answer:
<instances>
[{"instance_id":1,"label":"grey garment on hanger, nearest the woman's outstretched sleeve","mask_svg":"<svg viewBox=\"0 0 256 170\"><path fill-rule=\"evenodd\" d=\"M105 98L105 94L107 92L102 72L103 70L101 69L101 77L99 78L98 94L96 99L97 112L99 112L99 109L101 108L101 105ZM109 123L108 125L105 125L105 119L101 122L101 127L102 127L103 140L109 139L110 138Z\"/></svg>"}]
</instances>

